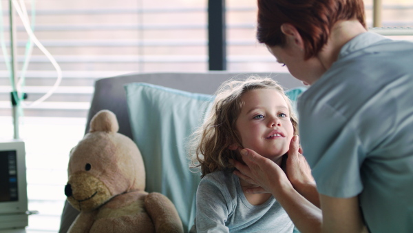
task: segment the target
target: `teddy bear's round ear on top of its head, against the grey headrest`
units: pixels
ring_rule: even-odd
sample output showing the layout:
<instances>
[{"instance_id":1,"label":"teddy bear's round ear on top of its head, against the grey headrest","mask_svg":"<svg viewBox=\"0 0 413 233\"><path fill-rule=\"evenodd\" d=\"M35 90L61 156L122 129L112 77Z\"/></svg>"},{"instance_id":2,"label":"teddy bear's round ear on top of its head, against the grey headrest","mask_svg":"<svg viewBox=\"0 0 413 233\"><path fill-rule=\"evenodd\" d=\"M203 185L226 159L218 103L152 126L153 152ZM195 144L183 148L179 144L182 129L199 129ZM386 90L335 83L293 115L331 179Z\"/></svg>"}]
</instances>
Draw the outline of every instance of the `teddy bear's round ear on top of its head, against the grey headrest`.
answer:
<instances>
[{"instance_id":1,"label":"teddy bear's round ear on top of its head, against the grey headrest","mask_svg":"<svg viewBox=\"0 0 413 233\"><path fill-rule=\"evenodd\" d=\"M89 132L118 132L119 124L116 115L109 110L100 110L90 121Z\"/></svg>"}]
</instances>

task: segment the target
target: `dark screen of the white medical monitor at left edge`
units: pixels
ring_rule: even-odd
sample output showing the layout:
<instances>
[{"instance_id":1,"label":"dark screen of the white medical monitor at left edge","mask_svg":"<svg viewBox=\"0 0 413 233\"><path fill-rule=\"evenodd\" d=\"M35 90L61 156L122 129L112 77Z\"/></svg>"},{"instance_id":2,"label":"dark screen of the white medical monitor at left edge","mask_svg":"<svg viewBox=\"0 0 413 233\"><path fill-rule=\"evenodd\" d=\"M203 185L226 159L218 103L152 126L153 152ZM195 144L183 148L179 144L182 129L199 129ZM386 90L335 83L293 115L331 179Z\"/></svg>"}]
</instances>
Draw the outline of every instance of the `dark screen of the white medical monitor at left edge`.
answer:
<instances>
[{"instance_id":1,"label":"dark screen of the white medical monitor at left edge","mask_svg":"<svg viewBox=\"0 0 413 233\"><path fill-rule=\"evenodd\" d=\"M0 202L19 200L16 150L0 150L0 187Z\"/></svg>"}]
</instances>

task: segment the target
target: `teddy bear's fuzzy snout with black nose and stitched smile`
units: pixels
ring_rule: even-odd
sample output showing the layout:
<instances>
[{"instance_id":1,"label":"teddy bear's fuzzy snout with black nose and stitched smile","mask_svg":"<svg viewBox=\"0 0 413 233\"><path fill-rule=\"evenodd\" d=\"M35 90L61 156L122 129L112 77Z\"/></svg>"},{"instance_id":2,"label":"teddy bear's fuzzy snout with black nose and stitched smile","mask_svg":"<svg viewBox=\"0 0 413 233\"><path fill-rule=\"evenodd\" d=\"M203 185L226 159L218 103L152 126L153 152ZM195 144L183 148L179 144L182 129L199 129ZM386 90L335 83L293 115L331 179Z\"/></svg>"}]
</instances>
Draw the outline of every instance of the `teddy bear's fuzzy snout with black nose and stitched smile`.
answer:
<instances>
[{"instance_id":1,"label":"teddy bear's fuzzy snout with black nose and stitched smile","mask_svg":"<svg viewBox=\"0 0 413 233\"><path fill-rule=\"evenodd\" d=\"M65 185L67 201L79 211L92 211L111 199L105 183L87 172L72 174Z\"/></svg>"}]
</instances>

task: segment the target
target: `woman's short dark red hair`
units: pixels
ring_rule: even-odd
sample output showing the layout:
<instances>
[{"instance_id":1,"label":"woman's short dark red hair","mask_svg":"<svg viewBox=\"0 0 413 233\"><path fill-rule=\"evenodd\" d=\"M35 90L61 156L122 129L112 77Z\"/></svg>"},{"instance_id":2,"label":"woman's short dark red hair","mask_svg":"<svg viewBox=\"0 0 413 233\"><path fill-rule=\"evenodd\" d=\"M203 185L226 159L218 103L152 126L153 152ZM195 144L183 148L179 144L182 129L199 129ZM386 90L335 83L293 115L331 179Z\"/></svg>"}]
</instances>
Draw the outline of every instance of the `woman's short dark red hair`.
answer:
<instances>
[{"instance_id":1,"label":"woman's short dark red hair","mask_svg":"<svg viewBox=\"0 0 413 233\"><path fill-rule=\"evenodd\" d=\"M306 59L327 43L332 26L341 20L357 19L366 28L363 0L258 0L257 39L273 47L283 46L283 23L301 35Z\"/></svg>"}]
</instances>

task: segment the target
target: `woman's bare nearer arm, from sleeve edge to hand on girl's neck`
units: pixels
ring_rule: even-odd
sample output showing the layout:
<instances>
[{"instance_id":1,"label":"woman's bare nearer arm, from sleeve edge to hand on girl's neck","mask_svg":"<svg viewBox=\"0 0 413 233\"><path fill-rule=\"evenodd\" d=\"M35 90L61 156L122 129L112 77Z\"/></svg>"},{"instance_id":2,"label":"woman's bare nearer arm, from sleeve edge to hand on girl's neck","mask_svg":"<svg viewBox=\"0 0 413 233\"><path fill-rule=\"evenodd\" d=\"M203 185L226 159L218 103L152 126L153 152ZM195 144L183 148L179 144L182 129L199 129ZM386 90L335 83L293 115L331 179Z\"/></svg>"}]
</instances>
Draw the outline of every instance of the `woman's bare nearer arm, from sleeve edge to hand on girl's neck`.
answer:
<instances>
[{"instance_id":1,"label":"woman's bare nearer arm, from sleeve edge to hand on girl's neck","mask_svg":"<svg viewBox=\"0 0 413 233\"><path fill-rule=\"evenodd\" d=\"M246 165L233 161L238 170L234 173L250 183L261 186L266 192L271 192L300 232L367 232L361 218L357 196L339 199L320 195L321 212L293 188L284 171L276 163L253 150L244 149L241 154ZM313 191L310 192L310 196L315 194Z\"/></svg>"}]
</instances>

